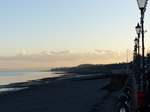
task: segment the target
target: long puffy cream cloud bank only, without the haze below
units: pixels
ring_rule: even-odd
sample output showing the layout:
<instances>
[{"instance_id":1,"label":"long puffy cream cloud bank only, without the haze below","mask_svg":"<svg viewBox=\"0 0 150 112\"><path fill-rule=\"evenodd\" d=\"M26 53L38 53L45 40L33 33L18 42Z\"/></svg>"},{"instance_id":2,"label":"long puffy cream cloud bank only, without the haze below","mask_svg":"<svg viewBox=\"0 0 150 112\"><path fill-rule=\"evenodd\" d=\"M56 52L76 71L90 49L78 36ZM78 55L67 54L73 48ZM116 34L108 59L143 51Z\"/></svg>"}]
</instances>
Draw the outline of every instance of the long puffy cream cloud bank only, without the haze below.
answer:
<instances>
[{"instance_id":1,"label":"long puffy cream cloud bank only, without the haze below","mask_svg":"<svg viewBox=\"0 0 150 112\"><path fill-rule=\"evenodd\" d=\"M132 52L130 51L129 54ZM18 55L11 57L0 56L0 60L3 61L33 61L33 62L59 62L59 61L101 61L102 63L109 63L112 61L125 61L127 58L126 52L117 52L113 50L99 50L96 49L91 52L74 52L70 50L65 51L45 51L35 54L27 54L25 50L22 50Z\"/></svg>"}]
</instances>

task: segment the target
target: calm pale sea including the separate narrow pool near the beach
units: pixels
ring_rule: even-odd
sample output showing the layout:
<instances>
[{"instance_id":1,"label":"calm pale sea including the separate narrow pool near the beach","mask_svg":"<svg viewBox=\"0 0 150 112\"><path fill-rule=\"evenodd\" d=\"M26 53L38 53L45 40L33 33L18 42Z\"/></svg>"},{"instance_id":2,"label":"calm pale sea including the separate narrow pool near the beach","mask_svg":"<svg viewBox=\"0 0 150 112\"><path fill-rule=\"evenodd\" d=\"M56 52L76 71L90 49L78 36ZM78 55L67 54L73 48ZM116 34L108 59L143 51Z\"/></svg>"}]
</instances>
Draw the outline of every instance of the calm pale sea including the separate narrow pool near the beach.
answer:
<instances>
[{"instance_id":1,"label":"calm pale sea including the separate narrow pool near the beach","mask_svg":"<svg viewBox=\"0 0 150 112\"><path fill-rule=\"evenodd\" d=\"M61 77L64 72L37 72L37 71L23 71L23 72L0 72L0 94L10 91L18 91L26 88L7 88L6 85L14 83L28 82L32 80L38 80L43 78L55 78Z\"/></svg>"}]
</instances>

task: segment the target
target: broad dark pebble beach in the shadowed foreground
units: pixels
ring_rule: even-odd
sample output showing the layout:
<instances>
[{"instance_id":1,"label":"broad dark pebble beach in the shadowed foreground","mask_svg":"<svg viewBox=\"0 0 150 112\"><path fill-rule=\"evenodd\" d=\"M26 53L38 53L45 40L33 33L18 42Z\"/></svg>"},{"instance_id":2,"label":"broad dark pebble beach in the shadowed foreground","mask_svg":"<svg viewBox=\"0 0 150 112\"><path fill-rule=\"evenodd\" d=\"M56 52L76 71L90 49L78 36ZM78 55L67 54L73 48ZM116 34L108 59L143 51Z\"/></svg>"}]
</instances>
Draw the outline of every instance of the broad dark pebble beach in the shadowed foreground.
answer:
<instances>
[{"instance_id":1,"label":"broad dark pebble beach in the shadowed foreground","mask_svg":"<svg viewBox=\"0 0 150 112\"><path fill-rule=\"evenodd\" d=\"M1 112L116 112L120 90L102 89L111 78L47 78L0 95ZM37 81L38 82L38 81ZM17 85L17 84L16 84ZM24 86L25 87L25 86Z\"/></svg>"}]
</instances>

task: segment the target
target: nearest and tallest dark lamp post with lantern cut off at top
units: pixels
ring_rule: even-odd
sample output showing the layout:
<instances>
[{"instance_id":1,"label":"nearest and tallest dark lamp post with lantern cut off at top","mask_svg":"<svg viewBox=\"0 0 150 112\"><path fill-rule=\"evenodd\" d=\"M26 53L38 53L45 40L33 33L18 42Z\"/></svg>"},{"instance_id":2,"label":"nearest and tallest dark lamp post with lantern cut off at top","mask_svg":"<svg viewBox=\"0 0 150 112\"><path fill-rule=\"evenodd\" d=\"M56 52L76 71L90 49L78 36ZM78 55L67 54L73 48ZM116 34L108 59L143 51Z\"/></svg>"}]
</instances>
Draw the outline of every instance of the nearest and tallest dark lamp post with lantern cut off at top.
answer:
<instances>
[{"instance_id":1,"label":"nearest and tallest dark lamp post with lantern cut off at top","mask_svg":"<svg viewBox=\"0 0 150 112\"><path fill-rule=\"evenodd\" d=\"M146 79L145 79L145 62L144 62L144 13L146 11L146 5L148 0L137 0L139 9L141 11L141 33L142 33L142 90L146 92Z\"/></svg>"}]
</instances>

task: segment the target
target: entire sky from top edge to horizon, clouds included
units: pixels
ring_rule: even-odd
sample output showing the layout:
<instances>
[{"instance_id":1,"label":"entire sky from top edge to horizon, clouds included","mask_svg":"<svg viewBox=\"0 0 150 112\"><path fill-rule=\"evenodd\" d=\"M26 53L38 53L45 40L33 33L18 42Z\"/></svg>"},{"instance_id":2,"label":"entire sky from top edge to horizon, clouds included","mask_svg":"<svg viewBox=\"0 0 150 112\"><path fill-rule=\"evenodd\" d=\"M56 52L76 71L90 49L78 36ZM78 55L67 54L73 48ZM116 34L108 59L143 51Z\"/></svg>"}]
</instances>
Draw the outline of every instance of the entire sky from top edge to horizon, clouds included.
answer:
<instances>
[{"instance_id":1,"label":"entire sky from top edge to horizon, clouds included","mask_svg":"<svg viewBox=\"0 0 150 112\"><path fill-rule=\"evenodd\" d=\"M131 61L136 0L1 0L0 70ZM144 18L150 52L150 5Z\"/></svg>"}]
</instances>

